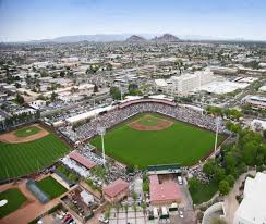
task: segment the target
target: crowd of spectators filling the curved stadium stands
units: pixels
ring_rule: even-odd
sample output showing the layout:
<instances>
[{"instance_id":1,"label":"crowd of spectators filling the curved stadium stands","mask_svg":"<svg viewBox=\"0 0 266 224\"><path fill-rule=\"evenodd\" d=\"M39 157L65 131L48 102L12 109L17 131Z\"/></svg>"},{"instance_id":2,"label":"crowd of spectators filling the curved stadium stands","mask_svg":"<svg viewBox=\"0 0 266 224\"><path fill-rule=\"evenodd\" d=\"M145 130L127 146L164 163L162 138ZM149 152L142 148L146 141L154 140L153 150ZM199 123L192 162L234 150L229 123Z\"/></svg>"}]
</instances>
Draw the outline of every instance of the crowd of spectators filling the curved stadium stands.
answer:
<instances>
[{"instance_id":1,"label":"crowd of spectators filling the curved stadium stands","mask_svg":"<svg viewBox=\"0 0 266 224\"><path fill-rule=\"evenodd\" d=\"M206 129L216 130L215 117L203 114L193 109L183 107L173 107L158 102L142 102L130 104L121 109L114 109L105 114L98 115L92 119L89 122L78 126L73 130L70 126L61 127L60 130L68 136L72 141L83 141L89 139L98 134L98 127L105 127L106 129L125 121L126 119L134 116L142 112L156 112L161 113L182 122L186 122ZM219 128L220 132L223 128Z\"/></svg>"}]
</instances>

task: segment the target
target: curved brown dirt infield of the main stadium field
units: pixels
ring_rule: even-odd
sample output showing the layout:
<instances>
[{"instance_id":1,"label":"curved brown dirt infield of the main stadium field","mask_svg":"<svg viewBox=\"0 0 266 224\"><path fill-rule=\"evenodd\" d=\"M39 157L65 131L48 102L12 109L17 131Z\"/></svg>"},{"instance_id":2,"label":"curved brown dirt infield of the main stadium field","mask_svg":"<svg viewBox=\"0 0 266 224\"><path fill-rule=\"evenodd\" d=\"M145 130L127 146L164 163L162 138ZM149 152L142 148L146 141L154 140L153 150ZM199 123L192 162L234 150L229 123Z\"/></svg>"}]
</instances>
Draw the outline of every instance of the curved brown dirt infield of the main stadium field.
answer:
<instances>
[{"instance_id":1,"label":"curved brown dirt infield of the main stadium field","mask_svg":"<svg viewBox=\"0 0 266 224\"><path fill-rule=\"evenodd\" d=\"M172 121L168 121L168 120L161 120L159 121L156 125L145 125L140 123L138 121L135 122L131 122L128 125L133 128L133 129L137 129L137 130L161 130L161 129L166 129L170 126L172 126L173 122Z\"/></svg>"}]
</instances>

